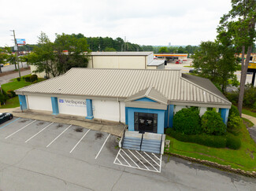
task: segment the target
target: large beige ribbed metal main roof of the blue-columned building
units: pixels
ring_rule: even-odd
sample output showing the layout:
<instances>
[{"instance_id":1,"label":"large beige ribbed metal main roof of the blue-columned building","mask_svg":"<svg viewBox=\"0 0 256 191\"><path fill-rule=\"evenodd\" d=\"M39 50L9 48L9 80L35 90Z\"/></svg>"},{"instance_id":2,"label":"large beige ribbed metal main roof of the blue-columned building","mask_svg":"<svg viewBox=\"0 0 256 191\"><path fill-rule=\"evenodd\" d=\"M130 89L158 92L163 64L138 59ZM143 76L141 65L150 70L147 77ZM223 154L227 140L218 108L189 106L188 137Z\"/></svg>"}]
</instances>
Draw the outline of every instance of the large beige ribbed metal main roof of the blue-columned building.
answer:
<instances>
[{"instance_id":1,"label":"large beige ribbed metal main roof of the blue-columned building","mask_svg":"<svg viewBox=\"0 0 256 191\"><path fill-rule=\"evenodd\" d=\"M61 94L84 97L128 98L154 87L170 104L230 108L229 102L206 79L182 77L180 70L72 68L64 75L16 90L17 94ZM209 86L209 88L206 88ZM228 105L228 107L227 107Z\"/></svg>"}]
</instances>

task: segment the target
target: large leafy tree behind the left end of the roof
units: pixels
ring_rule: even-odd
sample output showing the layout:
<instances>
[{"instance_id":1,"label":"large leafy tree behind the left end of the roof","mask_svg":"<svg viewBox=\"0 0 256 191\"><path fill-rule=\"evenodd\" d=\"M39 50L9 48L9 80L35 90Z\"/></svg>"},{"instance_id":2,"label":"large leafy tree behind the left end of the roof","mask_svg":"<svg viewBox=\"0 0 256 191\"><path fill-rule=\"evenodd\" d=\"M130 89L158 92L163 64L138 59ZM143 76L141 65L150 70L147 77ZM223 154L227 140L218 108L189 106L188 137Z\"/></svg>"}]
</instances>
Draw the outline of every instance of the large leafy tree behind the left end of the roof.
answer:
<instances>
[{"instance_id":1,"label":"large leafy tree behind the left end of the roof","mask_svg":"<svg viewBox=\"0 0 256 191\"><path fill-rule=\"evenodd\" d=\"M46 72L46 76L58 76L70 68L86 68L88 63L87 41L74 35L56 35L55 42L41 32L38 46L28 55L28 62L36 66L34 72Z\"/></svg>"}]
</instances>

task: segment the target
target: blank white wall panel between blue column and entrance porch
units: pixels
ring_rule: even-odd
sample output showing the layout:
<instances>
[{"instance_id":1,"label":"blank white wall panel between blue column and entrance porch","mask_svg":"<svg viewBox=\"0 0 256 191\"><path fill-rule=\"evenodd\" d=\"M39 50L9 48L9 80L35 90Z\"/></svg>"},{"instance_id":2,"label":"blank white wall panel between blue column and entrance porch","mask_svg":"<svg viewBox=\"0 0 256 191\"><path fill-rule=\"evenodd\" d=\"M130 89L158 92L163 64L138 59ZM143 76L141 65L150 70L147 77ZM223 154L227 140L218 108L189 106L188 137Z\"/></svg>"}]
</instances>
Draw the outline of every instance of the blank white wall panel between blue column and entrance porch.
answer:
<instances>
[{"instance_id":1,"label":"blank white wall panel between blue column and entrance porch","mask_svg":"<svg viewBox=\"0 0 256 191\"><path fill-rule=\"evenodd\" d=\"M119 103L117 101L92 100L92 106L93 115L96 119L119 122ZM124 105L121 105L121 108L124 108ZM121 113L124 115L124 112L125 108ZM125 115L124 117L121 115L121 119L125 121Z\"/></svg>"}]
</instances>

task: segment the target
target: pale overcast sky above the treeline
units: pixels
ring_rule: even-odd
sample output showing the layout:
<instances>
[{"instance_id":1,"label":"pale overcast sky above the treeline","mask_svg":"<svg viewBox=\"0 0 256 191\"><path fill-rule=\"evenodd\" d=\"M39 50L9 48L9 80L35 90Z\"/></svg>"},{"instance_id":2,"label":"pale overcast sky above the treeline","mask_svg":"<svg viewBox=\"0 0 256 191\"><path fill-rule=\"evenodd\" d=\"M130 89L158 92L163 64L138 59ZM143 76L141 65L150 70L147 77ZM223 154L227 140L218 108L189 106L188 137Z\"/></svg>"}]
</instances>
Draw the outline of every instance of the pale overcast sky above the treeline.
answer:
<instances>
[{"instance_id":1,"label":"pale overcast sky above the treeline","mask_svg":"<svg viewBox=\"0 0 256 191\"><path fill-rule=\"evenodd\" d=\"M231 0L0 0L0 46L13 46L12 32L27 44L41 31L86 37L126 37L139 45L199 45L213 41Z\"/></svg>"}]
</instances>

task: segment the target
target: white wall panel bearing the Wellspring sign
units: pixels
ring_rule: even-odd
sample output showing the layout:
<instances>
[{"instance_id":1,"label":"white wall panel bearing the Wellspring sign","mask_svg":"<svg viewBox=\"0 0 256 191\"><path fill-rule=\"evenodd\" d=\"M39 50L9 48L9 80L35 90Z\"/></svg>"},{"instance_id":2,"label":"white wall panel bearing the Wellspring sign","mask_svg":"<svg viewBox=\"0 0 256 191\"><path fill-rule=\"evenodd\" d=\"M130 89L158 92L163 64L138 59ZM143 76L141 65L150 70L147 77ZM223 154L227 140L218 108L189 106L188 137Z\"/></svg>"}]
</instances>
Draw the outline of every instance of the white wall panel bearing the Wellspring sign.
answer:
<instances>
[{"instance_id":1,"label":"white wall panel bearing the Wellspring sign","mask_svg":"<svg viewBox=\"0 0 256 191\"><path fill-rule=\"evenodd\" d=\"M86 99L58 97L58 110L61 114L86 117Z\"/></svg>"}]
</instances>

